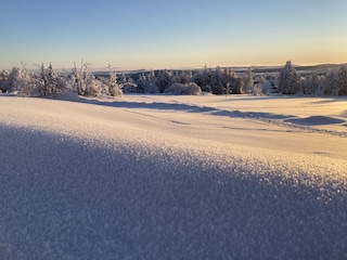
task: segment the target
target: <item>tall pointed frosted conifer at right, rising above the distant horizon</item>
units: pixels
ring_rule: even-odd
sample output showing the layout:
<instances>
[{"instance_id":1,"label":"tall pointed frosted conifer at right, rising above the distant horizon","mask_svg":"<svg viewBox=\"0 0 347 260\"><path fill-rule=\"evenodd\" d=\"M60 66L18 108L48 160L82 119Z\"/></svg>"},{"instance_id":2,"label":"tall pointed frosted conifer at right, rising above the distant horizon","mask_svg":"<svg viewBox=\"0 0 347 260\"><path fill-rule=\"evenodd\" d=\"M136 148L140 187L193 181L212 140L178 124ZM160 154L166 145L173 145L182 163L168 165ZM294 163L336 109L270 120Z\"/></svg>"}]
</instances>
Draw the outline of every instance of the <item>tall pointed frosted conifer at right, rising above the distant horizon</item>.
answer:
<instances>
[{"instance_id":1,"label":"tall pointed frosted conifer at right, rising above the distant horizon","mask_svg":"<svg viewBox=\"0 0 347 260\"><path fill-rule=\"evenodd\" d=\"M281 69L279 78L279 91L282 94L296 94L300 89L301 77L287 61L285 67Z\"/></svg>"}]
</instances>

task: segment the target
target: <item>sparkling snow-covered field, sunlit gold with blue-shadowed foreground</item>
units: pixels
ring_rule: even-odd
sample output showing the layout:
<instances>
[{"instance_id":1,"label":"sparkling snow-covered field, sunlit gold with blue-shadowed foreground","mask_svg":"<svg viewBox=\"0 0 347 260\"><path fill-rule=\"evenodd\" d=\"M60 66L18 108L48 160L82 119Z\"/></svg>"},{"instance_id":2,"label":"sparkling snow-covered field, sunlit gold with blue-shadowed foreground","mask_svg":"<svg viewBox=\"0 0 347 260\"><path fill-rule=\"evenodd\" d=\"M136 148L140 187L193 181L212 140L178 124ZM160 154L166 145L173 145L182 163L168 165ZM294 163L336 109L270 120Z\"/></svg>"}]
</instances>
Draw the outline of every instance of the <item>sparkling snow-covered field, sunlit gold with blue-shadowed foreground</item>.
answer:
<instances>
[{"instance_id":1,"label":"sparkling snow-covered field, sunlit gold with blue-shadowed foreground","mask_svg":"<svg viewBox=\"0 0 347 260\"><path fill-rule=\"evenodd\" d=\"M346 259L346 98L0 95L0 259Z\"/></svg>"}]
</instances>

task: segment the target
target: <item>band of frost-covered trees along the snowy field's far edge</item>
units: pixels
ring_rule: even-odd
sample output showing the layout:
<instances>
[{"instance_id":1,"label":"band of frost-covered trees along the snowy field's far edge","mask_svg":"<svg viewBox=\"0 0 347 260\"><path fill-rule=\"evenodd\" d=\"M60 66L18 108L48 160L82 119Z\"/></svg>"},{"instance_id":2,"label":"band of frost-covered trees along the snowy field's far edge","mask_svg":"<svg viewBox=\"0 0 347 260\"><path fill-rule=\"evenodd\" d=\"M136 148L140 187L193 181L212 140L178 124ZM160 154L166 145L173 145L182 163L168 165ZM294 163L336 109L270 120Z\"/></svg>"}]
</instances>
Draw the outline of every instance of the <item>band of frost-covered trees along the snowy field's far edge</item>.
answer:
<instances>
[{"instance_id":1,"label":"band of frost-covered trees along the snowy field's far edge","mask_svg":"<svg viewBox=\"0 0 347 260\"><path fill-rule=\"evenodd\" d=\"M13 67L9 73L0 72L0 91L15 92L27 96L54 96L68 92L85 96L111 95L121 98L124 93L176 93L201 94L262 94L261 84L267 80L272 91L282 94L347 94L347 67L324 74L310 72L299 74L286 62L277 75L237 74L231 68L207 68L200 70L150 70L138 74L117 74L111 65L106 75L94 75L91 64L81 62L63 75L57 74L52 64L40 66L37 73Z\"/></svg>"}]
</instances>

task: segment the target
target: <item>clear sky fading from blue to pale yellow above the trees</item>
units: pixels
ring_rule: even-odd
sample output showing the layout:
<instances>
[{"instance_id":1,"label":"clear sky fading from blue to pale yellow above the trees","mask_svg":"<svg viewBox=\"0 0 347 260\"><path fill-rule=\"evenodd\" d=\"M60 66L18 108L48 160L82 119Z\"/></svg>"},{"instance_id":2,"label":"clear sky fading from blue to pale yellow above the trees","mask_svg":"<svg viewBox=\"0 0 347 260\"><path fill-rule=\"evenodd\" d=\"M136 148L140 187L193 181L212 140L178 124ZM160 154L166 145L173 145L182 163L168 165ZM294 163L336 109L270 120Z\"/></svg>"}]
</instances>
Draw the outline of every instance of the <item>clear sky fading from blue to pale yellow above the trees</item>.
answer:
<instances>
[{"instance_id":1,"label":"clear sky fading from blue to pale yellow above the trees","mask_svg":"<svg viewBox=\"0 0 347 260\"><path fill-rule=\"evenodd\" d=\"M0 68L347 62L346 0L0 0Z\"/></svg>"}]
</instances>

